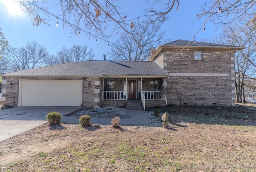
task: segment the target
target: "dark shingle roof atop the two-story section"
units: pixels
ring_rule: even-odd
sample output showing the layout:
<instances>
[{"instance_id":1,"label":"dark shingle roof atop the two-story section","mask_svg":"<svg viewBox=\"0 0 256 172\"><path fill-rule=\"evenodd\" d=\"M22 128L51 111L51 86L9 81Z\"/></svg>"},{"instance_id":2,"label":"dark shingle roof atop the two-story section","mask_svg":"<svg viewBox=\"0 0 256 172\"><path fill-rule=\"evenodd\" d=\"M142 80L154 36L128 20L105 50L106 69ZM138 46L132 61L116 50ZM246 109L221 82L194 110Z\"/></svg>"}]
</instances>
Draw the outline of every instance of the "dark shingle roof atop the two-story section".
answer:
<instances>
[{"instance_id":1,"label":"dark shingle roof atop the two-story section","mask_svg":"<svg viewBox=\"0 0 256 172\"><path fill-rule=\"evenodd\" d=\"M237 46L230 46L230 45L224 45L224 44L213 44L213 43L207 43L207 42L198 42L194 43L194 41L188 41L188 40L176 40L173 42L169 42L167 44L168 46L208 46L208 47L237 47Z\"/></svg>"}]
</instances>

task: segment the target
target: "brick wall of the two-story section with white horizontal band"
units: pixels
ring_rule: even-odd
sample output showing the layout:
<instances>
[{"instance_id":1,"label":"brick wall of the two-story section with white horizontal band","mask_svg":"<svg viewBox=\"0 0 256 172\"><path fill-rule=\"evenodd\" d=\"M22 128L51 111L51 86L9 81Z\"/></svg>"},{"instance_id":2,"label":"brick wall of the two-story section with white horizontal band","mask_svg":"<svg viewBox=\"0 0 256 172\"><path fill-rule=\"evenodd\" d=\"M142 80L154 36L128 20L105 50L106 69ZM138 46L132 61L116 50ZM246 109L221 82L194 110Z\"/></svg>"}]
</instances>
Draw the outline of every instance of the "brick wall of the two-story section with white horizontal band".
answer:
<instances>
[{"instance_id":1,"label":"brick wall of the two-story section with white horizontal band","mask_svg":"<svg viewBox=\"0 0 256 172\"><path fill-rule=\"evenodd\" d=\"M166 80L167 104L179 104L170 91L179 87L186 94L182 104L234 106L233 52L203 50L202 60L194 60L194 50L164 50L156 58L169 73ZM176 58L176 59L175 59Z\"/></svg>"}]
</instances>

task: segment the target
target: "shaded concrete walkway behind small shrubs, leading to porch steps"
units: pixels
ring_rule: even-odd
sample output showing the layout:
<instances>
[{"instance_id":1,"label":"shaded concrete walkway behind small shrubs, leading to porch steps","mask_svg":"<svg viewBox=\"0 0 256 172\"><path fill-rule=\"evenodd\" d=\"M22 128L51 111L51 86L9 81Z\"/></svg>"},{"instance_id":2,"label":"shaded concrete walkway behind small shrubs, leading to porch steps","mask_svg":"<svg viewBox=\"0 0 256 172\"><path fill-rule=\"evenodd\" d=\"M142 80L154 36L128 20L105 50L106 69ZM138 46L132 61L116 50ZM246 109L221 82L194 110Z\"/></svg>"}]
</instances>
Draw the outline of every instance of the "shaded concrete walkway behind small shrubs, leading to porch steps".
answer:
<instances>
[{"instance_id":1,"label":"shaded concrete walkway behind small shrubs, leading to porch steps","mask_svg":"<svg viewBox=\"0 0 256 172\"><path fill-rule=\"evenodd\" d=\"M146 114L142 110L130 110L131 118L120 119L120 125L145 125L150 124L151 121L148 119ZM71 117L71 116L62 116L61 122L64 123L72 123L72 124L79 124L79 118ZM111 124L112 119L97 119L92 118L92 124Z\"/></svg>"}]
</instances>

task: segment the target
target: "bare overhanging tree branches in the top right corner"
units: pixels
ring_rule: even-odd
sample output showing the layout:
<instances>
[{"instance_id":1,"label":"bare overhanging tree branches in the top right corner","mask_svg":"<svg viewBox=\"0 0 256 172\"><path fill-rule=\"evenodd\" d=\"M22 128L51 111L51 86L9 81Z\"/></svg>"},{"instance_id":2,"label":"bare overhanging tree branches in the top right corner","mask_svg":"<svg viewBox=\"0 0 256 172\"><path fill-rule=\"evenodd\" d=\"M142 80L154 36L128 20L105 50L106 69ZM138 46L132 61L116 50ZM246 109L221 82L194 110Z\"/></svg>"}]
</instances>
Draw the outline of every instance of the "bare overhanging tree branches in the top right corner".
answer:
<instances>
[{"instance_id":1,"label":"bare overhanging tree branches in the top right corner","mask_svg":"<svg viewBox=\"0 0 256 172\"><path fill-rule=\"evenodd\" d=\"M208 0L201 6L198 18L210 16L218 27L241 21L256 25L256 1L254 0Z\"/></svg>"}]
</instances>

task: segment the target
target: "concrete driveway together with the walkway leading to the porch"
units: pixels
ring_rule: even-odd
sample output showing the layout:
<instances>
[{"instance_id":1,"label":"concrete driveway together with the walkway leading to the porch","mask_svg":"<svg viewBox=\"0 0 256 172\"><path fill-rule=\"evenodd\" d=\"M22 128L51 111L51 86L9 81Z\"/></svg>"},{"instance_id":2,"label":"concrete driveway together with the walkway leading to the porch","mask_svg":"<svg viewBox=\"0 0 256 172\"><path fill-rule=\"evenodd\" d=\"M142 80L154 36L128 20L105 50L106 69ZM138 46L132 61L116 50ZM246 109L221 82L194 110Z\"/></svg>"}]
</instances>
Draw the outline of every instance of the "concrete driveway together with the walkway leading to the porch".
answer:
<instances>
[{"instance_id":1,"label":"concrete driveway together with the walkway leading to the porch","mask_svg":"<svg viewBox=\"0 0 256 172\"><path fill-rule=\"evenodd\" d=\"M76 117L65 116L79 110L80 107L16 107L0 110L0 142L18 134L46 124L46 115L49 112L60 112L61 122L79 124ZM151 121L142 110L131 110L131 118L121 119L121 125L144 125ZM111 124L112 119L92 118L92 124Z\"/></svg>"}]
</instances>

